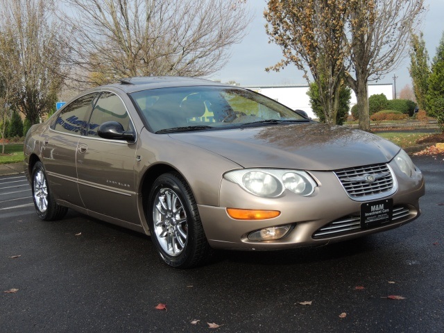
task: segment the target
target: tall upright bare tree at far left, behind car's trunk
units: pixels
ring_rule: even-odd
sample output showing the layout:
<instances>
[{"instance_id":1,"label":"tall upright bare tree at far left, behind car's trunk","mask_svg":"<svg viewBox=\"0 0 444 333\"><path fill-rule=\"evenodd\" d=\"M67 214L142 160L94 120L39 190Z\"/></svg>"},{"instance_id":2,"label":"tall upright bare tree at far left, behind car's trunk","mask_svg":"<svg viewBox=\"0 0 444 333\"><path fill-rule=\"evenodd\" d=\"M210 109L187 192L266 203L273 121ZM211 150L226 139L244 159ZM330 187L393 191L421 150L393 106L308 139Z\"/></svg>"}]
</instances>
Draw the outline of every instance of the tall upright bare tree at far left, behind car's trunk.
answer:
<instances>
[{"instance_id":1,"label":"tall upright bare tree at far left, behind car's trunk","mask_svg":"<svg viewBox=\"0 0 444 333\"><path fill-rule=\"evenodd\" d=\"M55 106L62 85L61 64L65 42L52 14L53 0L0 0L2 34L12 36L17 87L13 106L33 123ZM16 52L15 50L18 50Z\"/></svg>"}]
</instances>

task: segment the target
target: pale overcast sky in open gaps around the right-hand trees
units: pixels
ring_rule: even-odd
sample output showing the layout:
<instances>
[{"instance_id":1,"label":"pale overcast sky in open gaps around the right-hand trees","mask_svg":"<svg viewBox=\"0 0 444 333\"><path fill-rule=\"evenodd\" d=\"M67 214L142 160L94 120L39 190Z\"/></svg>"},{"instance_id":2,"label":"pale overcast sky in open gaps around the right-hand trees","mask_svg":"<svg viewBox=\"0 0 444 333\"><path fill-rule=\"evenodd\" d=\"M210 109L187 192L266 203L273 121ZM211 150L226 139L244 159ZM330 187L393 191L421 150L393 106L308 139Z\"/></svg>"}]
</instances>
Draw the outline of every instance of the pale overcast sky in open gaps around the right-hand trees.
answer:
<instances>
[{"instance_id":1,"label":"pale overcast sky in open gaps around the right-hand trees","mask_svg":"<svg viewBox=\"0 0 444 333\"><path fill-rule=\"evenodd\" d=\"M231 49L231 58L228 64L217 74L212 76L223 83L235 80L241 85L306 85L302 78L302 72L294 66L287 66L279 73L266 73L265 67L275 65L282 58L280 47L276 44L268 44L268 36L265 33L264 8L265 0L249 0L250 8L254 13L253 22L248 27L248 34L241 44L234 45ZM422 22L422 32L426 42L430 60L436 54L436 47L441 40L444 31L444 0L426 0L429 10ZM411 85L409 76L409 56L405 58L403 65L388 74L378 83L393 83L393 74L398 76L396 90L406 84Z\"/></svg>"}]
</instances>

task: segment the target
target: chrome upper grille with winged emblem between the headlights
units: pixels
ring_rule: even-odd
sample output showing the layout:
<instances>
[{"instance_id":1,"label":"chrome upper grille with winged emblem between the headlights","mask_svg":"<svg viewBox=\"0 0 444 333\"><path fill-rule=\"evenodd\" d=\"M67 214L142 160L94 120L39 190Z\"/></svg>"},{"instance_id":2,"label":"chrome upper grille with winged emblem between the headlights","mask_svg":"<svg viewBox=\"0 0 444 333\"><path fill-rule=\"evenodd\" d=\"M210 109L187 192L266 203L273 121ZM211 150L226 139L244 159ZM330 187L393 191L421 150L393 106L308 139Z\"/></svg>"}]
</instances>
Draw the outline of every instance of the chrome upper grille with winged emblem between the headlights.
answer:
<instances>
[{"instance_id":1,"label":"chrome upper grille with winged emblem between the headlights","mask_svg":"<svg viewBox=\"0 0 444 333\"><path fill-rule=\"evenodd\" d=\"M395 182L387 164L373 164L334 171L336 177L354 200L368 200L395 192Z\"/></svg>"}]
</instances>

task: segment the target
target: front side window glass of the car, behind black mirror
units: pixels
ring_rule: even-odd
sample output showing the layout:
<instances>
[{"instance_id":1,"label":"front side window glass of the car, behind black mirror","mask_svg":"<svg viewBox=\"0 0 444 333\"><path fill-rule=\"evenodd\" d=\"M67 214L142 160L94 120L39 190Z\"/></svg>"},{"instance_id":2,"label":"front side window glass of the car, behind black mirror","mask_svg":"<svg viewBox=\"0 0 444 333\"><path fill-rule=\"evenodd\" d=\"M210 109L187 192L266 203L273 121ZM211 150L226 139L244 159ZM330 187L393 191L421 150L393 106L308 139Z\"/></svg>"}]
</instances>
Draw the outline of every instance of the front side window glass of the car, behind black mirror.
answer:
<instances>
[{"instance_id":1,"label":"front side window glass of the car, behind black mirror","mask_svg":"<svg viewBox=\"0 0 444 333\"><path fill-rule=\"evenodd\" d=\"M117 121L121 123L124 130L130 129L130 117L125 105L112 92L103 92L100 95L89 119L88 135L97 137L97 129L106 121Z\"/></svg>"}]
</instances>

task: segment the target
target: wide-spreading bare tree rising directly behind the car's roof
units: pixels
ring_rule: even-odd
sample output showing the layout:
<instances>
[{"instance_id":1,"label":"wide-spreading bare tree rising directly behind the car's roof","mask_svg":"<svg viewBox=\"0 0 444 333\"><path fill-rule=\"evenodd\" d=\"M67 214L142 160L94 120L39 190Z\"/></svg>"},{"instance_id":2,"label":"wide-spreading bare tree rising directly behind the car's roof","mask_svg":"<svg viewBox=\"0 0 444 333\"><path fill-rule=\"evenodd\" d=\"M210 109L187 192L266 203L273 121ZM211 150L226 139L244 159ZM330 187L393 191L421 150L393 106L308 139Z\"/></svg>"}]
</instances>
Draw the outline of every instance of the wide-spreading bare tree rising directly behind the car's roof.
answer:
<instances>
[{"instance_id":1,"label":"wide-spreading bare tree rising directly behind the car's roof","mask_svg":"<svg viewBox=\"0 0 444 333\"><path fill-rule=\"evenodd\" d=\"M251 20L246 0L65 0L76 72L92 85L127 76L207 76Z\"/></svg>"}]
</instances>

